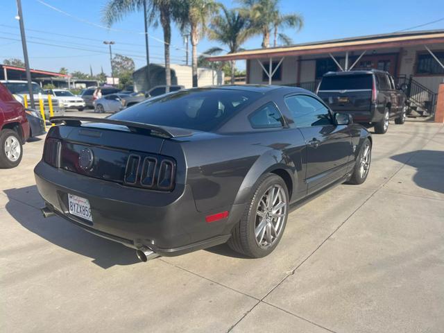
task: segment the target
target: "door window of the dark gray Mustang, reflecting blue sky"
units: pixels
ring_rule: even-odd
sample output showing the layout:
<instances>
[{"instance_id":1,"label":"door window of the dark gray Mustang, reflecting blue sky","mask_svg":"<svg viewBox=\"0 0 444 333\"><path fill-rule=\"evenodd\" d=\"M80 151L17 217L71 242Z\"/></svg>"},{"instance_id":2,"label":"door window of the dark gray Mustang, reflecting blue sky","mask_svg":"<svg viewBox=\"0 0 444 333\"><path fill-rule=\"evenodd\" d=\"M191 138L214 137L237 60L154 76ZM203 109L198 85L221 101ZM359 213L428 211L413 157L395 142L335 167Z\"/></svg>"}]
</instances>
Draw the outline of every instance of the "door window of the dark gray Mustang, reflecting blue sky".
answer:
<instances>
[{"instance_id":1,"label":"door window of the dark gray Mustang, reflecting blue sky","mask_svg":"<svg viewBox=\"0 0 444 333\"><path fill-rule=\"evenodd\" d=\"M295 95L285 98L285 104L289 108L296 126L327 126L331 125L330 112L314 97L307 95Z\"/></svg>"}]
</instances>

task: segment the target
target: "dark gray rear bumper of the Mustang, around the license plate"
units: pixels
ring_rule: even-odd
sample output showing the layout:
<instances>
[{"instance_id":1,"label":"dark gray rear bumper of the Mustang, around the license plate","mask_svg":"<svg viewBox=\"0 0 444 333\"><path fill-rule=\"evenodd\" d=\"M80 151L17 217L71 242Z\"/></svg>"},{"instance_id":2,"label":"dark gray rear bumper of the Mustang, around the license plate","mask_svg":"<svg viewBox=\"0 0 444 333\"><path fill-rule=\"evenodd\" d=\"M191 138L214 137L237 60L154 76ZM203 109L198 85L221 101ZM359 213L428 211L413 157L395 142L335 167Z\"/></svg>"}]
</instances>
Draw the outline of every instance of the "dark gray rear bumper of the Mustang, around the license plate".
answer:
<instances>
[{"instance_id":1,"label":"dark gray rear bumper of the Mustang, around the license plate","mask_svg":"<svg viewBox=\"0 0 444 333\"><path fill-rule=\"evenodd\" d=\"M188 185L160 193L80 176L44 162L35 167L35 180L46 207L58 216L100 237L131 248L146 246L164 256L224 243L245 207L220 207L217 212L230 212L228 219L206 223L205 216L216 212L198 212ZM68 194L89 200L92 223L69 214Z\"/></svg>"}]
</instances>

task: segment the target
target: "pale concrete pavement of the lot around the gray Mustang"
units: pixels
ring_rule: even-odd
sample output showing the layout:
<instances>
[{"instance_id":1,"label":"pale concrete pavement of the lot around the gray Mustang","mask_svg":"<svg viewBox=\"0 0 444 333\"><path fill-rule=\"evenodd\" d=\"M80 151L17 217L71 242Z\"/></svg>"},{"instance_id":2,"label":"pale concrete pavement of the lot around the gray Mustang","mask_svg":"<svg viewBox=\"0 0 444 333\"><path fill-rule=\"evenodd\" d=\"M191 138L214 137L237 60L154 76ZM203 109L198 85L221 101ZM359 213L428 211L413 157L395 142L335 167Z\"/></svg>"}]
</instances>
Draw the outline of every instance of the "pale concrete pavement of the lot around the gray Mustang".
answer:
<instances>
[{"instance_id":1,"label":"pale concrete pavement of the lot around the gray Mustang","mask_svg":"<svg viewBox=\"0 0 444 333\"><path fill-rule=\"evenodd\" d=\"M217 246L148 263L43 219L43 140L26 144L0 170L0 332L443 332L444 128L373 137L366 183L294 210L270 256Z\"/></svg>"}]
</instances>

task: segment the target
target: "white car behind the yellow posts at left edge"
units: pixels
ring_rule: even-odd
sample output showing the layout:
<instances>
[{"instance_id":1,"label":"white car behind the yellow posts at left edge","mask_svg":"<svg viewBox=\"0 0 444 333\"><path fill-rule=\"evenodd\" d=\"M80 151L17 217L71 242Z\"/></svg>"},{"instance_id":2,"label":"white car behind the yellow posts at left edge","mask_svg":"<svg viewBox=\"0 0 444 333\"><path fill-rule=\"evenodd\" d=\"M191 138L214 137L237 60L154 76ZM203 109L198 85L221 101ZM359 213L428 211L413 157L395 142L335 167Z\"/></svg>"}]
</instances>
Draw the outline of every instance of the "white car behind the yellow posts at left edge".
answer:
<instances>
[{"instance_id":1,"label":"white car behind the yellow posts at left edge","mask_svg":"<svg viewBox=\"0 0 444 333\"><path fill-rule=\"evenodd\" d=\"M25 80L0 80L0 83L3 83L11 94L16 94L17 96L20 96L22 101L24 101L24 95L26 95L26 98L28 99L28 107L31 108L31 101L29 99L29 92L28 92L28 81ZM40 85L37 85L37 83L32 83L33 87L33 97L35 101L35 108L39 109L39 99L42 99L43 105L44 105L44 114L46 119L49 119L49 101L48 96L45 94L44 90ZM52 106L53 106L53 114L55 116L62 116L65 114L65 108L63 107L63 104L56 98L52 99ZM40 110L40 109L39 109Z\"/></svg>"}]
</instances>

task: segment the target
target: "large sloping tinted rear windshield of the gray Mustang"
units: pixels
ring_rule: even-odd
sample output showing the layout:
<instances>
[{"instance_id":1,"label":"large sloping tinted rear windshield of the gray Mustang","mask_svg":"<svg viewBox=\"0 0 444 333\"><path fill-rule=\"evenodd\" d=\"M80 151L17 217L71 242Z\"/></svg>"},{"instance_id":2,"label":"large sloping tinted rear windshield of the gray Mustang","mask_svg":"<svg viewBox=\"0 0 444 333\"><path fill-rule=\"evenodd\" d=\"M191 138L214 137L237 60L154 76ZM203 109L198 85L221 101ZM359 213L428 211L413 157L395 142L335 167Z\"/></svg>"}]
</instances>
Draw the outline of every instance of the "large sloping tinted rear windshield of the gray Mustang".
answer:
<instances>
[{"instance_id":1,"label":"large sloping tinted rear windshield of the gray Mustang","mask_svg":"<svg viewBox=\"0 0 444 333\"><path fill-rule=\"evenodd\" d=\"M260 96L228 89L180 90L138 103L110 119L211 131Z\"/></svg>"}]
</instances>

